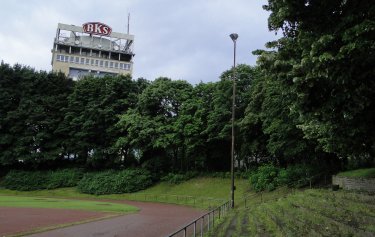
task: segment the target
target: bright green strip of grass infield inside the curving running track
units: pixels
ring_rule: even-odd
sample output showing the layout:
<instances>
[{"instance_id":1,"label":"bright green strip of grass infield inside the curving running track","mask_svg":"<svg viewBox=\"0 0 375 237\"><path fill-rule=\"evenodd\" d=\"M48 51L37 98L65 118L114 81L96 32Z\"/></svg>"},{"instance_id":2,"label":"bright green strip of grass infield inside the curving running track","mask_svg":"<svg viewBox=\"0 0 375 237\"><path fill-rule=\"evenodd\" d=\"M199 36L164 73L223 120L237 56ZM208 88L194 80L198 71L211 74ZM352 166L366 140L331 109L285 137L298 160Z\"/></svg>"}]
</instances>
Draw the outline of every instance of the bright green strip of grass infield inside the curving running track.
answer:
<instances>
[{"instance_id":1,"label":"bright green strip of grass infield inside the curving running track","mask_svg":"<svg viewBox=\"0 0 375 237\"><path fill-rule=\"evenodd\" d=\"M138 211L136 207L119 203L24 196L0 196L0 206L58 208L114 213Z\"/></svg>"}]
</instances>

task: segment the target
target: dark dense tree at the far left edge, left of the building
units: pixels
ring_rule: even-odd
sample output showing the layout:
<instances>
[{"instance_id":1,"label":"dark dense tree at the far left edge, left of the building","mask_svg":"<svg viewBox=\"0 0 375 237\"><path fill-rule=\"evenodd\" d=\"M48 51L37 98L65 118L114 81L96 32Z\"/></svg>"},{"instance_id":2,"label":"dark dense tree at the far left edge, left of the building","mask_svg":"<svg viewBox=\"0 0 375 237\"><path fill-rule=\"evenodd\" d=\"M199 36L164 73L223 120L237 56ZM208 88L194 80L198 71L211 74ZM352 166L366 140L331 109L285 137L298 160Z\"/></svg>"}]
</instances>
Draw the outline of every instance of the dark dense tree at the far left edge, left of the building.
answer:
<instances>
[{"instance_id":1,"label":"dark dense tree at the far left edge, left of the building","mask_svg":"<svg viewBox=\"0 0 375 237\"><path fill-rule=\"evenodd\" d=\"M0 161L39 166L62 158L58 126L73 82L63 74L0 66Z\"/></svg>"}]
</instances>

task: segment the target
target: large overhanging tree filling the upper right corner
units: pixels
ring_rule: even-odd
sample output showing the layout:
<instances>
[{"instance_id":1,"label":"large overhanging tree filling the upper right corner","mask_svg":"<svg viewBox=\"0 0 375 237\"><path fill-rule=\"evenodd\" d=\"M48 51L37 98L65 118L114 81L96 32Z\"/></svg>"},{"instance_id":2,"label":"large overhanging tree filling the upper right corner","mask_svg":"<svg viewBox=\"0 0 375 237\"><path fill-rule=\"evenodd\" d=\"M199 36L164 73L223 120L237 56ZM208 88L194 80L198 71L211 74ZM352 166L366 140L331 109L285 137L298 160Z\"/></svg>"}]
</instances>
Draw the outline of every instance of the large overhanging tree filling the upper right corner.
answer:
<instances>
[{"instance_id":1,"label":"large overhanging tree filling the upper right corner","mask_svg":"<svg viewBox=\"0 0 375 237\"><path fill-rule=\"evenodd\" d=\"M296 95L308 139L340 157L375 155L375 5L365 0L269 0L275 75Z\"/></svg>"}]
</instances>

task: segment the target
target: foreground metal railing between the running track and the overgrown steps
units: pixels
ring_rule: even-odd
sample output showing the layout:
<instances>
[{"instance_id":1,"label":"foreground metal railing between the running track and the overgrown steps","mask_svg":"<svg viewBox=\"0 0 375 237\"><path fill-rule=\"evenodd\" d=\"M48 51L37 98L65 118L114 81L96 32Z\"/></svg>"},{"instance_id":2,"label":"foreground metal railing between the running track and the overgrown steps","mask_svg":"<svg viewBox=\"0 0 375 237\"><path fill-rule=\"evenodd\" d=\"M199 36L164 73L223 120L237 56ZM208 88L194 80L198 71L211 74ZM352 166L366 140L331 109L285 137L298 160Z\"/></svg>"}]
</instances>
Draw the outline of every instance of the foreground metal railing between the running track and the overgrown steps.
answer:
<instances>
[{"instance_id":1,"label":"foreground metal railing between the running track and the overgrown steps","mask_svg":"<svg viewBox=\"0 0 375 237\"><path fill-rule=\"evenodd\" d=\"M215 218L220 219L225 216L230 209L229 201L222 204L221 206L211 210L210 212L204 214L203 216L195 219L186 226L180 228L179 230L167 235L167 237L177 237L177 236L201 236L208 233L215 226Z\"/></svg>"}]
</instances>

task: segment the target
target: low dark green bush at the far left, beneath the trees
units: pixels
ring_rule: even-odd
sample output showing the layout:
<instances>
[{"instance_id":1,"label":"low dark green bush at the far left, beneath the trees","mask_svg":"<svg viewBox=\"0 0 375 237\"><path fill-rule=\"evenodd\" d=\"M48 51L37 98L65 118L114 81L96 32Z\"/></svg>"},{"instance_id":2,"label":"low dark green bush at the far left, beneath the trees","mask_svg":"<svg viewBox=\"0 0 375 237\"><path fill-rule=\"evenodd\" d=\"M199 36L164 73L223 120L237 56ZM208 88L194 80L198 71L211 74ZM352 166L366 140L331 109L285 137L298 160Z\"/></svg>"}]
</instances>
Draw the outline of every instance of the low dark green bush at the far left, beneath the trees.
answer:
<instances>
[{"instance_id":1,"label":"low dark green bush at the far left, beneath the trees","mask_svg":"<svg viewBox=\"0 0 375 237\"><path fill-rule=\"evenodd\" d=\"M55 189L76 186L82 178L80 169L62 169L56 171L11 170L3 178L1 185L20 191Z\"/></svg>"}]
</instances>

